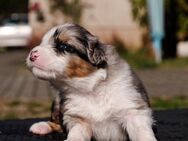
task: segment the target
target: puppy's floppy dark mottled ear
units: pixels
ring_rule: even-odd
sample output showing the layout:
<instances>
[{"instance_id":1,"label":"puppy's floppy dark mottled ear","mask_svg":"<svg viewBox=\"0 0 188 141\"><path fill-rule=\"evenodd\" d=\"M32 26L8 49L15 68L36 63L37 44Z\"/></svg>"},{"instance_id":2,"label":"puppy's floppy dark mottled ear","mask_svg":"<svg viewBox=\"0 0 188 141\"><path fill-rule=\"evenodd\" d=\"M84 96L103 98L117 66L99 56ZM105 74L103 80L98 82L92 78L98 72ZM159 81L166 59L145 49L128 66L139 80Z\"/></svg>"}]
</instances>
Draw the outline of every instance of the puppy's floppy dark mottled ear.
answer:
<instances>
[{"instance_id":1,"label":"puppy's floppy dark mottled ear","mask_svg":"<svg viewBox=\"0 0 188 141\"><path fill-rule=\"evenodd\" d=\"M90 36L88 39L87 55L89 61L98 68L107 67L107 59L102 44L95 36Z\"/></svg>"}]
</instances>

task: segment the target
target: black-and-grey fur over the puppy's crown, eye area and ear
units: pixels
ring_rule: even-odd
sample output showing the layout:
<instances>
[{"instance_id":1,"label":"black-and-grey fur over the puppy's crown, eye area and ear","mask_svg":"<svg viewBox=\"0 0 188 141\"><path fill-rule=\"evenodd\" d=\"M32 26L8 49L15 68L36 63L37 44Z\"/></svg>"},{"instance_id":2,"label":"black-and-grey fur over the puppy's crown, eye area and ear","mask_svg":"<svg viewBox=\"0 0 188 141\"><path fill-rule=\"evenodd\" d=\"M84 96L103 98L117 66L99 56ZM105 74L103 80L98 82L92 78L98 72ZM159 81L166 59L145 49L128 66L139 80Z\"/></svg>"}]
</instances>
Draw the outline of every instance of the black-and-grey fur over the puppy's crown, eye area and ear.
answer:
<instances>
[{"instance_id":1,"label":"black-and-grey fur over the puppy's crown, eye area and ear","mask_svg":"<svg viewBox=\"0 0 188 141\"><path fill-rule=\"evenodd\" d=\"M56 31L53 34L54 38L54 49L58 54L66 54L72 53L76 54L83 60L89 62L92 64L94 67L97 68L106 68L107 67L107 62L103 60L104 58L104 52L100 48L100 43L99 41L91 34L89 33L86 29L79 25L70 25L68 27L65 27L66 30L70 30L72 32L75 32L76 34L74 35L74 38L85 47L85 50L89 50L89 55L87 54L88 52L83 52L79 50L78 48L74 47L73 45L70 45L66 42L63 42L59 39L59 35L61 32L63 32L62 29L56 29ZM91 47L92 44L92 47ZM101 56L100 56L101 55Z\"/></svg>"}]
</instances>

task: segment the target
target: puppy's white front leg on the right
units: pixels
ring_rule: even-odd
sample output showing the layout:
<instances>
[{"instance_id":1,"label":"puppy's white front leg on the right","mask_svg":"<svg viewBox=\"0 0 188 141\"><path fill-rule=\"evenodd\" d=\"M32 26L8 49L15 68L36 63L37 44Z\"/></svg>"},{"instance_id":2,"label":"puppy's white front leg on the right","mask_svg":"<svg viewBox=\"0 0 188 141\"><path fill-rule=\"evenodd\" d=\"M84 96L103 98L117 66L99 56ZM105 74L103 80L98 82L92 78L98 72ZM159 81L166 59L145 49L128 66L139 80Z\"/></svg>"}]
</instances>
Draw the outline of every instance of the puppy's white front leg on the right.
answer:
<instances>
[{"instance_id":1,"label":"puppy's white front leg on the right","mask_svg":"<svg viewBox=\"0 0 188 141\"><path fill-rule=\"evenodd\" d=\"M134 110L126 115L123 123L131 141L157 141L152 130L151 111Z\"/></svg>"}]
</instances>

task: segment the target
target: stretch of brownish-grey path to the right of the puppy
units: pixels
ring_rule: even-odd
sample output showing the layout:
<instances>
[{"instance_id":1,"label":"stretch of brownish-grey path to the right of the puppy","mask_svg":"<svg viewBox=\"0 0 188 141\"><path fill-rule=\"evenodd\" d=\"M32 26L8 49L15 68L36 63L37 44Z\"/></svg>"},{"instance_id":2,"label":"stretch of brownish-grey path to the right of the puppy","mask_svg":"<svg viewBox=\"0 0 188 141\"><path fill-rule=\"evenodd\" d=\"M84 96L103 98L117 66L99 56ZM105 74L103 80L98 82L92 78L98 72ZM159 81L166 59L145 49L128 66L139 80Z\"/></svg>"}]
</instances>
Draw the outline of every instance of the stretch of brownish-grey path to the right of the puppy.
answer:
<instances>
[{"instance_id":1,"label":"stretch of brownish-grey path to the right of the puppy","mask_svg":"<svg viewBox=\"0 0 188 141\"><path fill-rule=\"evenodd\" d=\"M139 70L151 97L188 96L188 70Z\"/></svg>"}]
</instances>

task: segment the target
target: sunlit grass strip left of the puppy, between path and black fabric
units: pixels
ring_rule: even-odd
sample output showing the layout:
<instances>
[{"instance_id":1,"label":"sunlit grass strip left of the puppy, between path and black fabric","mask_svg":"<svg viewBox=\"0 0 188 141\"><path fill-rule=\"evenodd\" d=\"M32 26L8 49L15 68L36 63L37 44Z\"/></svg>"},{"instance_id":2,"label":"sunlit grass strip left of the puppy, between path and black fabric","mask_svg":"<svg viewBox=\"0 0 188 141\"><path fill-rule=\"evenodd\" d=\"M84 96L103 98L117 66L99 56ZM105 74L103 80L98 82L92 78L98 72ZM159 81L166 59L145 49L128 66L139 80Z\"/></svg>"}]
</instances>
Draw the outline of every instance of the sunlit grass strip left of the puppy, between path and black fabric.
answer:
<instances>
[{"instance_id":1,"label":"sunlit grass strip left of the puppy, between path and black fabric","mask_svg":"<svg viewBox=\"0 0 188 141\"><path fill-rule=\"evenodd\" d=\"M0 101L0 119L24 119L35 117L49 117L51 101Z\"/></svg>"}]
</instances>

